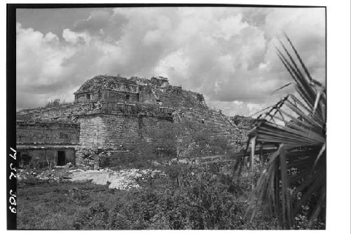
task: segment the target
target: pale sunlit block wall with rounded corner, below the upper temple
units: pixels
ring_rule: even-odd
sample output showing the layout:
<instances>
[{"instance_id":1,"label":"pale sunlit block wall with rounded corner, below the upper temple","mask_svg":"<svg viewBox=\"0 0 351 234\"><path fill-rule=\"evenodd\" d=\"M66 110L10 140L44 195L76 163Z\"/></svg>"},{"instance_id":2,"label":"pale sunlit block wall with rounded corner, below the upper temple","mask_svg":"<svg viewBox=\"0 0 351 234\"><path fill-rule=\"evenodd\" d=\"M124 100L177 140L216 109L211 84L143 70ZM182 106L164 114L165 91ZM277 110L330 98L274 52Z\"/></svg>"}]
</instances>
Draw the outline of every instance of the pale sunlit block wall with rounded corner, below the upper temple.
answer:
<instances>
[{"instance_id":1,"label":"pale sunlit block wall with rounded corner, below the upper temple","mask_svg":"<svg viewBox=\"0 0 351 234\"><path fill-rule=\"evenodd\" d=\"M100 152L123 150L138 141L143 129L171 122L169 115L84 115L79 117L81 145L77 148L78 165L92 164ZM92 165L90 165L92 166Z\"/></svg>"}]
</instances>

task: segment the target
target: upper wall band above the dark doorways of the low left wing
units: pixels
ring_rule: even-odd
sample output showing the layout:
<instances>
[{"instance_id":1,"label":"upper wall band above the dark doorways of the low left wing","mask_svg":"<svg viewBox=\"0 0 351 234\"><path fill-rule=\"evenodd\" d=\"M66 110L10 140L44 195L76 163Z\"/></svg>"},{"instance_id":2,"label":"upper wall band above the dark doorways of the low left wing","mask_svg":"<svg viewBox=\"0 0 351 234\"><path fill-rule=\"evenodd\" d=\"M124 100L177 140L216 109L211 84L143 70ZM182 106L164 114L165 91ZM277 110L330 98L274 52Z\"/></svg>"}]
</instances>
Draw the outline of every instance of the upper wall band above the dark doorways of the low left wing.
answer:
<instances>
[{"instance_id":1,"label":"upper wall band above the dark doorways of the low left wing","mask_svg":"<svg viewBox=\"0 0 351 234\"><path fill-rule=\"evenodd\" d=\"M17 121L16 136L18 145L75 145L79 143L79 124Z\"/></svg>"}]
</instances>

